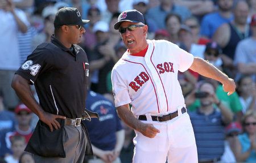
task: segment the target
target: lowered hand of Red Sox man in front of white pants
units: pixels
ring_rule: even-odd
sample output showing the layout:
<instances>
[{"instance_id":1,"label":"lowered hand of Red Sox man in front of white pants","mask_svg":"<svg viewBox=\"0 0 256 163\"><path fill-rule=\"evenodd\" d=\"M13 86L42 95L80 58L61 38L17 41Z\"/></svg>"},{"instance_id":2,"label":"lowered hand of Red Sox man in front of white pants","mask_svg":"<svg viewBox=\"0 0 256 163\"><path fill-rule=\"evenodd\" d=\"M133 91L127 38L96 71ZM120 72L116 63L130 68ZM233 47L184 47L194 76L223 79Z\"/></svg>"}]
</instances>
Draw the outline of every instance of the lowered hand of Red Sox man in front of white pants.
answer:
<instances>
[{"instance_id":1,"label":"lowered hand of Red Sox man in front of white pants","mask_svg":"<svg viewBox=\"0 0 256 163\"><path fill-rule=\"evenodd\" d=\"M152 124L145 123L141 123L139 125L138 131L141 132L142 135L147 136L148 138L155 138L156 134L160 133L160 131Z\"/></svg>"}]
</instances>

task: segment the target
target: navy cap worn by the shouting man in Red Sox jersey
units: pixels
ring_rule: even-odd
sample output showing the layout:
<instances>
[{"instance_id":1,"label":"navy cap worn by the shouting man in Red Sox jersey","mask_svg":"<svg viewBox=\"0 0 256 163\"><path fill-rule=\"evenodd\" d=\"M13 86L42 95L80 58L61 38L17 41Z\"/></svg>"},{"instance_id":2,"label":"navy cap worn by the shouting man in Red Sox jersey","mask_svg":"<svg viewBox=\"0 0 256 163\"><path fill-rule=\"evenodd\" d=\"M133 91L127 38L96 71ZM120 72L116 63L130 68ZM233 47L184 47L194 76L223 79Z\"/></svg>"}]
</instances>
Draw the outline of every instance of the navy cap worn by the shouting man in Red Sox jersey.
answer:
<instances>
[{"instance_id":1,"label":"navy cap worn by the shouting man in Red Sox jersey","mask_svg":"<svg viewBox=\"0 0 256 163\"><path fill-rule=\"evenodd\" d=\"M123 11L117 19L117 23L114 25L114 29L118 29L123 22L143 23L145 24L144 16L137 10Z\"/></svg>"}]
</instances>

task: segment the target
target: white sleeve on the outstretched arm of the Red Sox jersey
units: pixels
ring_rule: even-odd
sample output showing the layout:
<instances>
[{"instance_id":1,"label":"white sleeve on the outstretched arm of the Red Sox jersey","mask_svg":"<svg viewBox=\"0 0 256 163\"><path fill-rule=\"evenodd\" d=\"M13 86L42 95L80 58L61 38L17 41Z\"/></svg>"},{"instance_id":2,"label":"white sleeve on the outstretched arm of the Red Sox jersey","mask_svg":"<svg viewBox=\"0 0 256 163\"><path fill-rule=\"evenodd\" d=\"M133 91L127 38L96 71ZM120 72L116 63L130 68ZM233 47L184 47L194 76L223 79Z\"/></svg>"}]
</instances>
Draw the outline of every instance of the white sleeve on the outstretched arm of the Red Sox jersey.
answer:
<instances>
[{"instance_id":1,"label":"white sleeve on the outstretched arm of the Red Sox jersey","mask_svg":"<svg viewBox=\"0 0 256 163\"><path fill-rule=\"evenodd\" d=\"M179 71L184 72L192 65L194 57L192 54L180 49L179 46L174 46L175 53L177 54L177 60L179 65Z\"/></svg>"}]
</instances>

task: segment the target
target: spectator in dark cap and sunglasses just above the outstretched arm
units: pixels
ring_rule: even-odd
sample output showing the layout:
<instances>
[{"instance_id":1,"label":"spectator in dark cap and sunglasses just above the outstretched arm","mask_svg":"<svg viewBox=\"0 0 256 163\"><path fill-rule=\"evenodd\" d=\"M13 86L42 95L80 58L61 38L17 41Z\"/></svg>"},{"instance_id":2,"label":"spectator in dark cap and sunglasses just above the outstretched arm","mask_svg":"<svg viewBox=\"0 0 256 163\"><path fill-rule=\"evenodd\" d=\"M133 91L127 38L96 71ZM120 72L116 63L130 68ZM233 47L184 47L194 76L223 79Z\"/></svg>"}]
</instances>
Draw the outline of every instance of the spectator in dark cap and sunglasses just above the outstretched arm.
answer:
<instances>
[{"instance_id":1,"label":"spectator in dark cap and sunglasses just above the outstretched arm","mask_svg":"<svg viewBox=\"0 0 256 163\"><path fill-rule=\"evenodd\" d=\"M219 70L222 70L222 50L217 42L208 42L204 52L204 59L212 63Z\"/></svg>"}]
</instances>

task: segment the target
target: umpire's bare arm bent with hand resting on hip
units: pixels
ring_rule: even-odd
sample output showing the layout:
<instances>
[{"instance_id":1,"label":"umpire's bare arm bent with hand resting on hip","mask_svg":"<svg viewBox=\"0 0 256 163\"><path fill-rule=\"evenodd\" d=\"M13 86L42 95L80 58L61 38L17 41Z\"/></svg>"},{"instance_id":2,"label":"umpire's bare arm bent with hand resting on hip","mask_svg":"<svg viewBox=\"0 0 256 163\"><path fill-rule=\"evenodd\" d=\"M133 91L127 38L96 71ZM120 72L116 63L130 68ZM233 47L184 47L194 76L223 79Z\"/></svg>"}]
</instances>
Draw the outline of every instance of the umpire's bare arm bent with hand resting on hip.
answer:
<instances>
[{"instance_id":1,"label":"umpire's bare arm bent with hand resting on hip","mask_svg":"<svg viewBox=\"0 0 256 163\"><path fill-rule=\"evenodd\" d=\"M13 82L11 83L11 87L13 87L20 100L36 115L38 115L39 119L46 123L51 131L53 131L53 127L55 129L60 128L60 124L56 121L56 118L65 119L65 117L45 112L35 100L28 80L24 79L20 75L15 74Z\"/></svg>"}]
</instances>

